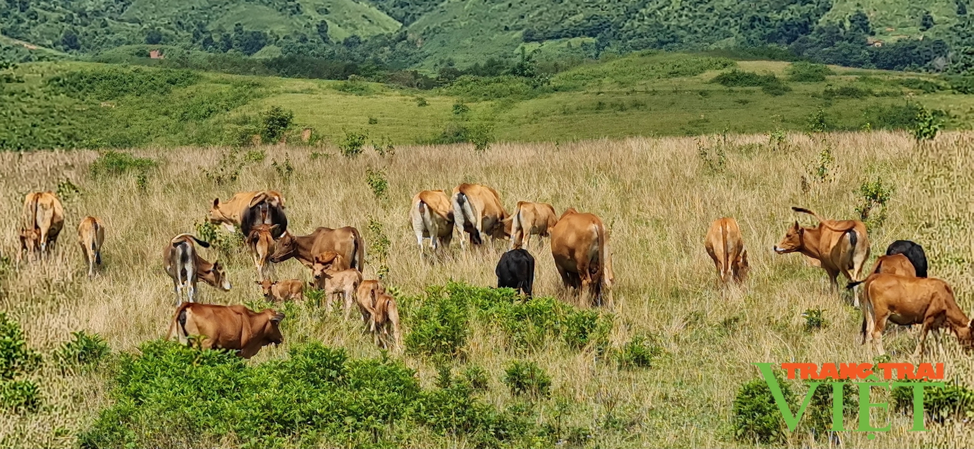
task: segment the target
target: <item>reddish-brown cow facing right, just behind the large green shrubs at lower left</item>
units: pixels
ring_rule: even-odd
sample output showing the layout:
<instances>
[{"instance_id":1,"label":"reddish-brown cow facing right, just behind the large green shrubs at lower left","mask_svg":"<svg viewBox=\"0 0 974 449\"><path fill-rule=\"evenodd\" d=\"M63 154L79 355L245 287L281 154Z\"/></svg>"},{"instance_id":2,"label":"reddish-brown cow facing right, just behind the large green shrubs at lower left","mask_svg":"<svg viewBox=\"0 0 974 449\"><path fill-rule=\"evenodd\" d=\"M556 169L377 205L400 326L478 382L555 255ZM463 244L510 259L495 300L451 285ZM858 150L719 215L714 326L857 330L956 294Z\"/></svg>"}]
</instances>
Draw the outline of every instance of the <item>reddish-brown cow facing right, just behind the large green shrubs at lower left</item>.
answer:
<instances>
[{"instance_id":1,"label":"reddish-brown cow facing right, just behind the large green shrubs at lower left","mask_svg":"<svg viewBox=\"0 0 974 449\"><path fill-rule=\"evenodd\" d=\"M249 359L269 344L281 344L284 314L272 309L253 312L243 305L187 302L176 309L167 339L200 349L229 349ZM197 337L197 338L193 338Z\"/></svg>"}]
</instances>

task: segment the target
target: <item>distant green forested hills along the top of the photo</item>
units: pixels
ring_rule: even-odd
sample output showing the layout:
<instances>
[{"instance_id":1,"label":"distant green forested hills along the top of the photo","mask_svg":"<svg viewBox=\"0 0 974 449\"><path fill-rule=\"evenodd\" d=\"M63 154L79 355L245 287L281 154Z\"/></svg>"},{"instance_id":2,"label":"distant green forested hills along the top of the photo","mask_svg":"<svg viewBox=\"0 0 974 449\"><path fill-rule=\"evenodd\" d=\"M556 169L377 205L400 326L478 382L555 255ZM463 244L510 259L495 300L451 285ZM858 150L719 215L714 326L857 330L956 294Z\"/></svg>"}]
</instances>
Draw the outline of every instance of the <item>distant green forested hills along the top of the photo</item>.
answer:
<instances>
[{"instance_id":1,"label":"distant green forested hills along the top of the photo","mask_svg":"<svg viewBox=\"0 0 974 449\"><path fill-rule=\"evenodd\" d=\"M755 57L895 70L964 73L974 66L971 0L0 2L2 35L80 57L161 45L438 69L510 59L526 46L556 58L747 49Z\"/></svg>"}]
</instances>

